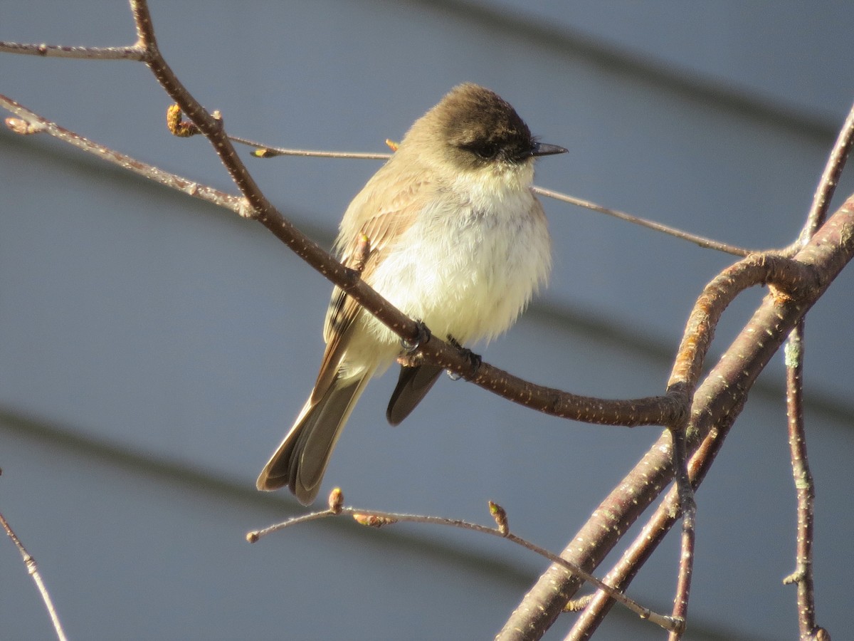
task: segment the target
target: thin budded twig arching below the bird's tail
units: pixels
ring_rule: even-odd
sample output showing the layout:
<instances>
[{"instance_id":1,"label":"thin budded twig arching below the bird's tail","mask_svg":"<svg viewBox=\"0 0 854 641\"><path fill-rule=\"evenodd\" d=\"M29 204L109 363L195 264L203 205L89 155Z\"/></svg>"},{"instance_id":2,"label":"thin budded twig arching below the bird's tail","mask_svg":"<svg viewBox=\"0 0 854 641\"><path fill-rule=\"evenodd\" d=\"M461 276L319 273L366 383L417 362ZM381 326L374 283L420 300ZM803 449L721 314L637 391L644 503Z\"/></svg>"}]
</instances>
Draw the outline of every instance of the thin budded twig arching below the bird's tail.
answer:
<instances>
[{"instance_id":1,"label":"thin budded twig arching below the bird's tail","mask_svg":"<svg viewBox=\"0 0 854 641\"><path fill-rule=\"evenodd\" d=\"M489 510L490 513L494 516L496 524L498 526L488 527L482 526L478 523L471 523L471 521L467 520L447 519L443 516L409 515L400 514L397 512L383 512L372 509L350 508L343 506L341 504L342 500L343 499L341 490L339 488L336 488L330 494L330 504L334 502L335 507L330 507L330 509L325 509L319 512L312 512L307 515L295 516L291 519L284 520L281 523L277 523L272 526L267 526L261 530L248 532L246 535L246 540L249 541L249 543L256 543L260 538L265 537L267 534L272 534L272 532L284 530L284 528L286 527L300 525L310 520L325 519L327 517L337 515L351 516L360 524L368 526L384 526L398 522L407 522L457 527L463 530L470 530L471 532L481 532L482 534L489 534L494 537L506 538L512 543L521 545L526 550L530 550L535 554L543 556L548 561L556 563L561 567L564 567L565 570L575 574L582 580L594 585L598 590L604 591L609 597L611 597L615 601L622 603L626 608L634 612L636 615L640 616L641 619L650 620L652 621L652 623L663 627L665 630L672 632L680 629L684 625L681 620L675 620L670 616L659 615L658 613L653 612L650 609L644 608L642 605L640 605L640 603L637 603L633 599L626 597L622 592L614 590L613 588L611 588L610 585L606 585L605 583L600 581L600 579L597 579L592 574L582 570L581 567L578 567L575 564L568 562L565 559L562 559L560 556L553 554L553 552L550 552L537 544L531 543L525 538L521 538L516 534L513 534L512 532L510 532L506 524L506 512L503 508L501 508L499 505L496 505L495 503L489 503Z\"/></svg>"}]
</instances>

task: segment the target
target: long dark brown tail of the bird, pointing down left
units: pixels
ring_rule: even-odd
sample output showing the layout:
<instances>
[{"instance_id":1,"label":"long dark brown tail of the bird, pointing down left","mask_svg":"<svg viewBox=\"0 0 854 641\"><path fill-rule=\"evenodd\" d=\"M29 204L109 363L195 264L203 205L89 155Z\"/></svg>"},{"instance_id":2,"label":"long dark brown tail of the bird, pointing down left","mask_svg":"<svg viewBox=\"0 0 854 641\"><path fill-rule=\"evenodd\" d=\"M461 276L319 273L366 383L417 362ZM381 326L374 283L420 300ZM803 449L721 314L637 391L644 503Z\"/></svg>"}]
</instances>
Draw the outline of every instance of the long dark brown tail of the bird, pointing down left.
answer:
<instances>
[{"instance_id":1,"label":"long dark brown tail of the bird, pointing down left","mask_svg":"<svg viewBox=\"0 0 854 641\"><path fill-rule=\"evenodd\" d=\"M341 430L372 373L371 369L354 378L335 379L315 403L308 397L255 486L269 491L287 485L300 503L313 503Z\"/></svg>"}]
</instances>

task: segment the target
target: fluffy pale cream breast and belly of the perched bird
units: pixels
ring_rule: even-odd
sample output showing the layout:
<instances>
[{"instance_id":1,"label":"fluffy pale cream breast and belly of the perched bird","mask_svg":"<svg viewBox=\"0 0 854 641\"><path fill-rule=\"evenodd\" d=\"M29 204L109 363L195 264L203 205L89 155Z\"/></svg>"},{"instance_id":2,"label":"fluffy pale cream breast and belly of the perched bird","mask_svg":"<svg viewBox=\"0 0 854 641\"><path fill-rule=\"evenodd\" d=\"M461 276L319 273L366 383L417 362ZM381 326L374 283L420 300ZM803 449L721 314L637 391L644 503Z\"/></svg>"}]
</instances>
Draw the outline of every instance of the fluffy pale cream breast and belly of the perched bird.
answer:
<instances>
[{"instance_id":1,"label":"fluffy pale cream breast and belly of the perched bird","mask_svg":"<svg viewBox=\"0 0 854 641\"><path fill-rule=\"evenodd\" d=\"M459 193L459 192L458 192ZM545 215L528 189L483 203L437 198L371 277L389 302L460 343L494 338L545 283L551 246ZM374 323L383 342L397 342Z\"/></svg>"}]
</instances>

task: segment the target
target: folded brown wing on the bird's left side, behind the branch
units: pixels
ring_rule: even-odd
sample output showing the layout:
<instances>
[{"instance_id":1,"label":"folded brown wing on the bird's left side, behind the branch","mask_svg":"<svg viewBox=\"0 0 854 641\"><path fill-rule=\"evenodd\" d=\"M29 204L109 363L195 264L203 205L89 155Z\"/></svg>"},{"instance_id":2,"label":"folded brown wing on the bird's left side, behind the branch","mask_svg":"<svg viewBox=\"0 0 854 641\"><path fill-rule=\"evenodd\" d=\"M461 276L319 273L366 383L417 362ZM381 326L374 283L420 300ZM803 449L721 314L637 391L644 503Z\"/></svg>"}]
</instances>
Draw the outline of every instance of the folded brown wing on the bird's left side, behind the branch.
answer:
<instances>
[{"instance_id":1,"label":"folded brown wing on the bird's left side, behind the branch","mask_svg":"<svg viewBox=\"0 0 854 641\"><path fill-rule=\"evenodd\" d=\"M386 165L383 169L388 168ZM342 221L341 235L336 247L342 265L356 268L361 265L362 279L370 285L371 273L377 268L390 246L412 226L418 213L429 199L431 183L422 176L408 180L388 180L389 173L377 172L360 194L354 198ZM388 186L385 186L388 185ZM401 188L401 185L407 185ZM373 210L376 213L372 213ZM361 224L360 224L361 223ZM361 238L367 238L367 256ZM359 317L361 307L338 287L332 290L324 323L326 350L320 365L312 398L323 397L335 379L347 351L350 332Z\"/></svg>"}]
</instances>

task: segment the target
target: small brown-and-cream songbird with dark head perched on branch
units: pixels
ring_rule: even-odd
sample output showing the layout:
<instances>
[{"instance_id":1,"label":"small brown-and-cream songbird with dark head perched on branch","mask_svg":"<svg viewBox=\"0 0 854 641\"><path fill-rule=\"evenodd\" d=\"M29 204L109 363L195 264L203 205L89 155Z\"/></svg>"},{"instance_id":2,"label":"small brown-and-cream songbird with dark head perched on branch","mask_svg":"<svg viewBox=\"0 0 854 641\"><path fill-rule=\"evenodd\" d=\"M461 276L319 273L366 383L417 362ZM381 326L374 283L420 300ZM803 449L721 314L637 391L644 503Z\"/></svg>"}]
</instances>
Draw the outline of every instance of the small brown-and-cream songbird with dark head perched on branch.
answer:
<instances>
[{"instance_id":1,"label":"small brown-and-cream songbird with dark head perched on branch","mask_svg":"<svg viewBox=\"0 0 854 641\"><path fill-rule=\"evenodd\" d=\"M412 124L341 221L342 263L430 332L459 344L506 331L544 285L551 238L531 191L536 156L566 150L531 136L516 111L478 85L454 87ZM317 382L260 473L308 505L342 427L372 376L401 355L401 339L337 287L326 313ZM397 425L442 368L401 366L386 417Z\"/></svg>"}]
</instances>

